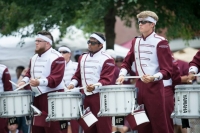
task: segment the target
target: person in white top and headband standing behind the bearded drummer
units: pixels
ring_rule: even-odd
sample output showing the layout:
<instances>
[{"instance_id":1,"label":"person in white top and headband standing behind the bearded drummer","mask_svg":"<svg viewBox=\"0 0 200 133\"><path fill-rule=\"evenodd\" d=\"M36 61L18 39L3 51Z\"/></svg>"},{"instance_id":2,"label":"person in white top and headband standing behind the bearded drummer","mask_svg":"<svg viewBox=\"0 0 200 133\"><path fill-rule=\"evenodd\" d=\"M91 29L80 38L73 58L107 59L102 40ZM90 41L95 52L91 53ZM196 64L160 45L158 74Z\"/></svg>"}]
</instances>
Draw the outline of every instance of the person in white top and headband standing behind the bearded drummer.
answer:
<instances>
[{"instance_id":1,"label":"person in white top and headband standing behind the bearded drummer","mask_svg":"<svg viewBox=\"0 0 200 133\"><path fill-rule=\"evenodd\" d=\"M65 84L65 87L70 83L72 76L76 72L78 63L73 62L71 60L71 50L67 46L61 46L58 49L58 52L62 54L66 61L65 65L65 73L63 77L63 81ZM70 120L68 125L68 133L78 133L79 132L79 124L77 120Z\"/></svg>"}]
</instances>

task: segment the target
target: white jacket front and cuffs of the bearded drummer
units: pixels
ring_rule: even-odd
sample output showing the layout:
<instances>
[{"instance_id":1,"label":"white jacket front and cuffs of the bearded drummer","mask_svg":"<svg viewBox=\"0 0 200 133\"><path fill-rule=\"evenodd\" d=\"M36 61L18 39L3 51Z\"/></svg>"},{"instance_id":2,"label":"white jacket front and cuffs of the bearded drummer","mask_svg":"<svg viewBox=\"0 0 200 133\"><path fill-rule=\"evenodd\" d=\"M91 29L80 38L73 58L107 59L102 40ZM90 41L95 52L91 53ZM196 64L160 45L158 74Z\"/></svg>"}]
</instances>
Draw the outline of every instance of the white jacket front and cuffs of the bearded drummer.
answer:
<instances>
[{"instance_id":1,"label":"white jacket front and cuffs of the bearded drummer","mask_svg":"<svg viewBox=\"0 0 200 133\"><path fill-rule=\"evenodd\" d=\"M31 68L30 68L30 75L31 78L40 78L39 80L39 86L32 87L32 91L36 93L35 96L39 96L40 94L64 89L64 82L61 81L61 83L55 87L50 88L48 87L48 77L51 73L51 65L52 63L59 57L62 57L62 55L54 50L53 48L50 48L45 53L43 53L41 56L38 56L38 54L35 54L31 59ZM56 63L65 63L65 61L57 61ZM29 78L24 77L23 81L28 82Z\"/></svg>"}]
</instances>

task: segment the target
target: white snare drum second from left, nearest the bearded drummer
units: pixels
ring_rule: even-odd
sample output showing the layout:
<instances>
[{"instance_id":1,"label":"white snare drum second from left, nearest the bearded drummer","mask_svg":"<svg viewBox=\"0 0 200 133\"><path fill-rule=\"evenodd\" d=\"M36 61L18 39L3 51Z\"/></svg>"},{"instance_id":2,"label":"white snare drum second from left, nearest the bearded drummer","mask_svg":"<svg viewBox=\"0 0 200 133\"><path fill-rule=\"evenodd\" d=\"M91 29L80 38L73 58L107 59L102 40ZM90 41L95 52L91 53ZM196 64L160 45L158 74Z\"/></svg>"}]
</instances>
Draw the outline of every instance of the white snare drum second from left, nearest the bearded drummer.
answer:
<instances>
[{"instance_id":1,"label":"white snare drum second from left, nearest the bearded drummer","mask_svg":"<svg viewBox=\"0 0 200 133\"><path fill-rule=\"evenodd\" d=\"M53 92L48 94L48 117L46 121L78 119L80 92Z\"/></svg>"}]
</instances>

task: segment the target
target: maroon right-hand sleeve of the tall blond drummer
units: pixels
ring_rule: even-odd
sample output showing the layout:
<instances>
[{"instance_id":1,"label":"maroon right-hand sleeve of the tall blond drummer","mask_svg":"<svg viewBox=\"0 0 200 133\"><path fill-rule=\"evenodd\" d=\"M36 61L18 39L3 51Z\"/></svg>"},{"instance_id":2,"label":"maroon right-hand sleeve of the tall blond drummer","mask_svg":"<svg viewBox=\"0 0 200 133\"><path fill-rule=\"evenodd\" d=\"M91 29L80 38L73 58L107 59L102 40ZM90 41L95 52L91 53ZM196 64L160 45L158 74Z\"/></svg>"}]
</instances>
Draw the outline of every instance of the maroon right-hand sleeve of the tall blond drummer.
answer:
<instances>
[{"instance_id":1,"label":"maroon right-hand sleeve of the tall blond drummer","mask_svg":"<svg viewBox=\"0 0 200 133\"><path fill-rule=\"evenodd\" d=\"M164 80L168 80L172 77L173 71L173 59L171 51L168 45L168 41L162 40L157 45L157 56L158 63L160 67L160 73L162 74Z\"/></svg>"}]
</instances>

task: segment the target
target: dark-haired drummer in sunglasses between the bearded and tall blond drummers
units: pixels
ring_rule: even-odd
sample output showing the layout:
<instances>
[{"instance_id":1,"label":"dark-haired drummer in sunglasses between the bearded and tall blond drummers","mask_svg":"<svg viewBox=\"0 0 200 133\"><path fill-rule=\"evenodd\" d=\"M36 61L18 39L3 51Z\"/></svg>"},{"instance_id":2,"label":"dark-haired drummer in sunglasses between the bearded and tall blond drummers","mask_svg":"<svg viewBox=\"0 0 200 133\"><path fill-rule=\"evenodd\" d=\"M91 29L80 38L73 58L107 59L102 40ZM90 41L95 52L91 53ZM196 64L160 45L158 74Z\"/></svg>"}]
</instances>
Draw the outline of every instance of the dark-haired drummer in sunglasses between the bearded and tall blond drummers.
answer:
<instances>
[{"instance_id":1,"label":"dark-haired drummer in sunglasses between the bearded and tall blond drummers","mask_svg":"<svg viewBox=\"0 0 200 133\"><path fill-rule=\"evenodd\" d=\"M114 60L103 51L105 37L100 33L93 33L88 40L89 53L79 57L78 68L72 77L68 89L73 89L78 84L85 87L84 108L90 107L91 112L97 117L100 110L100 96L98 86L111 85L115 72ZM111 133L111 117L98 117L97 123L84 133Z\"/></svg>"}]
</instances>

